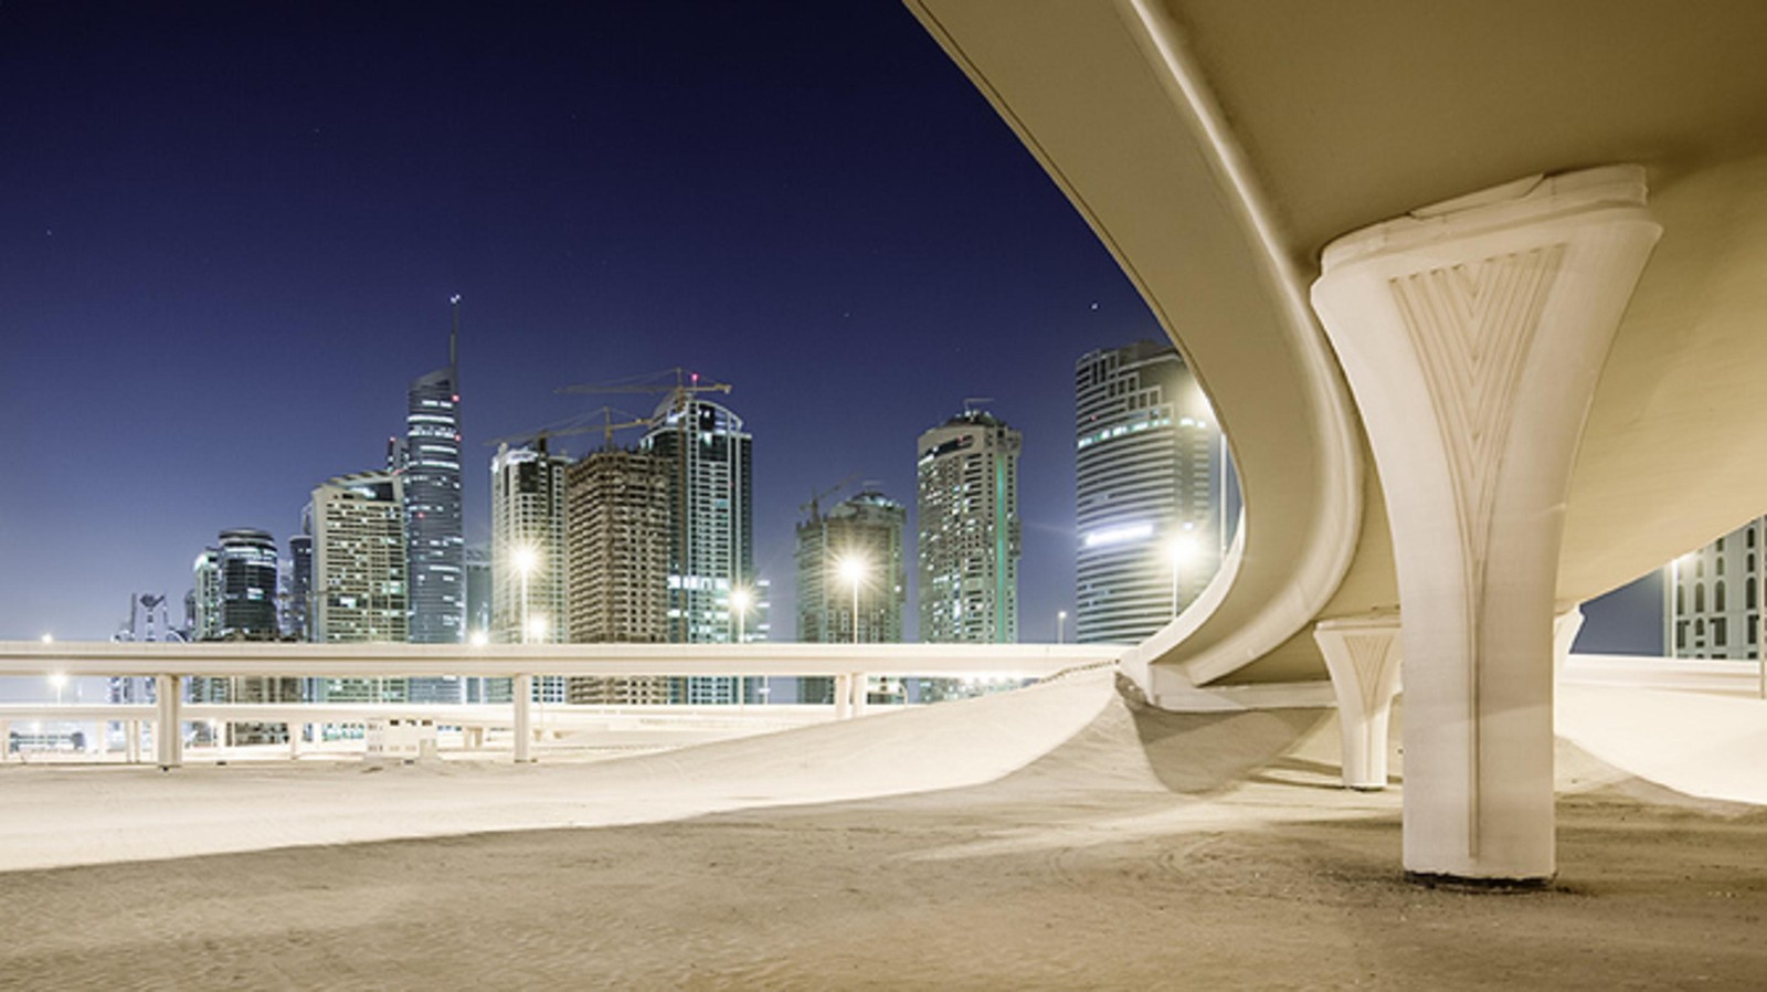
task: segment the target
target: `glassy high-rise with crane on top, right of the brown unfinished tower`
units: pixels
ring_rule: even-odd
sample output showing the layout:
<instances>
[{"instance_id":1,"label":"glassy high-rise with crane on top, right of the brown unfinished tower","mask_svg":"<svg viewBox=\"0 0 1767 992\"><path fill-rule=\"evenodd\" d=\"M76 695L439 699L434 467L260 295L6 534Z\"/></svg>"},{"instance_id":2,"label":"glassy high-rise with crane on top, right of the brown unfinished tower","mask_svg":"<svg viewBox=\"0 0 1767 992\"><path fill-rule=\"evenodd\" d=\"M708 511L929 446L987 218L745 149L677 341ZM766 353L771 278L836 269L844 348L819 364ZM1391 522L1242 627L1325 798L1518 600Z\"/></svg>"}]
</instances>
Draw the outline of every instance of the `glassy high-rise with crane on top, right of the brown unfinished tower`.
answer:
<instances>
[{"instance_id":1,"label":"glassy high-rise with crane on top, right of the brown unfinished tower","mask_svg":"<svg viewBox=\"0 0 1767 992\"><path fill-rule=\"evenodd\" d=\"M753 439L730 408L673 393L640 451L668 465L668 640L730 642L730 592L755 584ZM735 702L742 684L696 677L679 695L693 704Z\"/></svg>"}]
</instances>

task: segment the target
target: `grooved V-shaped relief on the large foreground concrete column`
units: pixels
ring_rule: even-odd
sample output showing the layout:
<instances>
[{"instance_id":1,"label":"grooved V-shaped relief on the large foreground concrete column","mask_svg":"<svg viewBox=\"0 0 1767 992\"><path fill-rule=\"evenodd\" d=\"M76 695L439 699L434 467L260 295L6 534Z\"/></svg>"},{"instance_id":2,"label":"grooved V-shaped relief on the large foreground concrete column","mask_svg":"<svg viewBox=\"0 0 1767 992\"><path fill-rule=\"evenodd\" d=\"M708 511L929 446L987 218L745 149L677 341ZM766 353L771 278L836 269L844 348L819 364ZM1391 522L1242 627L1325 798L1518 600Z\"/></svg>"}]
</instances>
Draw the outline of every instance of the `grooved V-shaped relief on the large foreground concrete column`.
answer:
<instances>
[{"instance_id":1,"label":"grooved V-shaped relief on the large foreground concrete column","mask_svg":"<svg viewBox=\"0 0 1767 992\"><path fill-rule=\"evenodd\" d=\"M1550 244L1412 272L1389 283L1430 380L1442 447L1454 476L1474 596L1484 584L1486 541L1516 385L1564 251L1564 244Z\"/></svg>"}]
</instances>

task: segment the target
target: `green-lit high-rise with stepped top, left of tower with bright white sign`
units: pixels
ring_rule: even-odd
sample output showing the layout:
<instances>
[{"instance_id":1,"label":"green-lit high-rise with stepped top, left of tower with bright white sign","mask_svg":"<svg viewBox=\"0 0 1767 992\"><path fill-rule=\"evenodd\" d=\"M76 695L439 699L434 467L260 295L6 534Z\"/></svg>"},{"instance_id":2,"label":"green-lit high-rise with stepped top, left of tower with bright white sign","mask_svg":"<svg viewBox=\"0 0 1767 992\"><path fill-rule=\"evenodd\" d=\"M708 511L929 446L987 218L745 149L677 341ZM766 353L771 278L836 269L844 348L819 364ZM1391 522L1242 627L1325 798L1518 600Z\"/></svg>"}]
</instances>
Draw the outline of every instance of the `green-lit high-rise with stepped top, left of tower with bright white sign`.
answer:
<instances>
[{"instance_id":1,"label":"green-lit high-rise with stepped top, left of tower with bright white sign","mask_svg":"<svg viewBox=\"0 0 1767 992\"><path fill-rule=\"evenodd\" d=\"M921 640L1018 640L1018 453L993 414L963 410L921 435Z\"/></svg>"}]
</instances>

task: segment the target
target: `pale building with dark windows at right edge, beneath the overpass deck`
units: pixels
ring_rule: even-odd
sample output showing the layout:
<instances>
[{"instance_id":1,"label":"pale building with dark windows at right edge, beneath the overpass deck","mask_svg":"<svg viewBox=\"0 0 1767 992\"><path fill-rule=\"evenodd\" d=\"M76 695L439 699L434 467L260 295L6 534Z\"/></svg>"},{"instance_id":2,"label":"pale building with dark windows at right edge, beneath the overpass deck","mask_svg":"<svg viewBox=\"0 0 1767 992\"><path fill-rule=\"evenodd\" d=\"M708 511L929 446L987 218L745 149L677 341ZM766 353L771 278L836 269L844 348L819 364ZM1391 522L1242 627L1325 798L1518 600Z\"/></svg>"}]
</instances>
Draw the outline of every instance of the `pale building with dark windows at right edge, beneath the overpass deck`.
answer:
<instances>
[{"instance_id":1,"label":"pale building with dark windows at right edge, beneath the overpass deck","mask_svg":"<svg viewBox=\"0 0 1767 992\"><path fill-rule=\"evenodd\" d=\"M1762 555L1767 518L1666 566L1663 644L1670 658L1760 658Z\"/></svg>"}]
</instances>

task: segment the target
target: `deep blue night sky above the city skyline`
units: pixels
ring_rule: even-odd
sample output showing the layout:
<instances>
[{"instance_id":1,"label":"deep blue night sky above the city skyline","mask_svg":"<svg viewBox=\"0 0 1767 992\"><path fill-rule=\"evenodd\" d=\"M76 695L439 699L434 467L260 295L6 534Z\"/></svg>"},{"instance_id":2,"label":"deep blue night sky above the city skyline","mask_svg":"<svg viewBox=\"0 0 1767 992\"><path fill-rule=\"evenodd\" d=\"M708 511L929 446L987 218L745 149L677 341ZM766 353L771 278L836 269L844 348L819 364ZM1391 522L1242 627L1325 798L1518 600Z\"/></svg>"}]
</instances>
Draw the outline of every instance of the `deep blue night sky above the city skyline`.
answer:
<instances>
[{"instance_id":1,"label":"deep blue night sky above the city skyline","mask_svg":"<svg viewBox=\"0 0 1767 992\"><path fill-rule=\"evenodd\" d=\"M286 546L383 465L452 294L468 545L486 440L686 366L755 433L790 638L799 504L912 507L915 437L984 396L1025 433L1021 640L1073 608L1073 362L1159 329L892 0L0 0L0 638L177 622L217 530Z\"/></svg>"}]
</instances>

